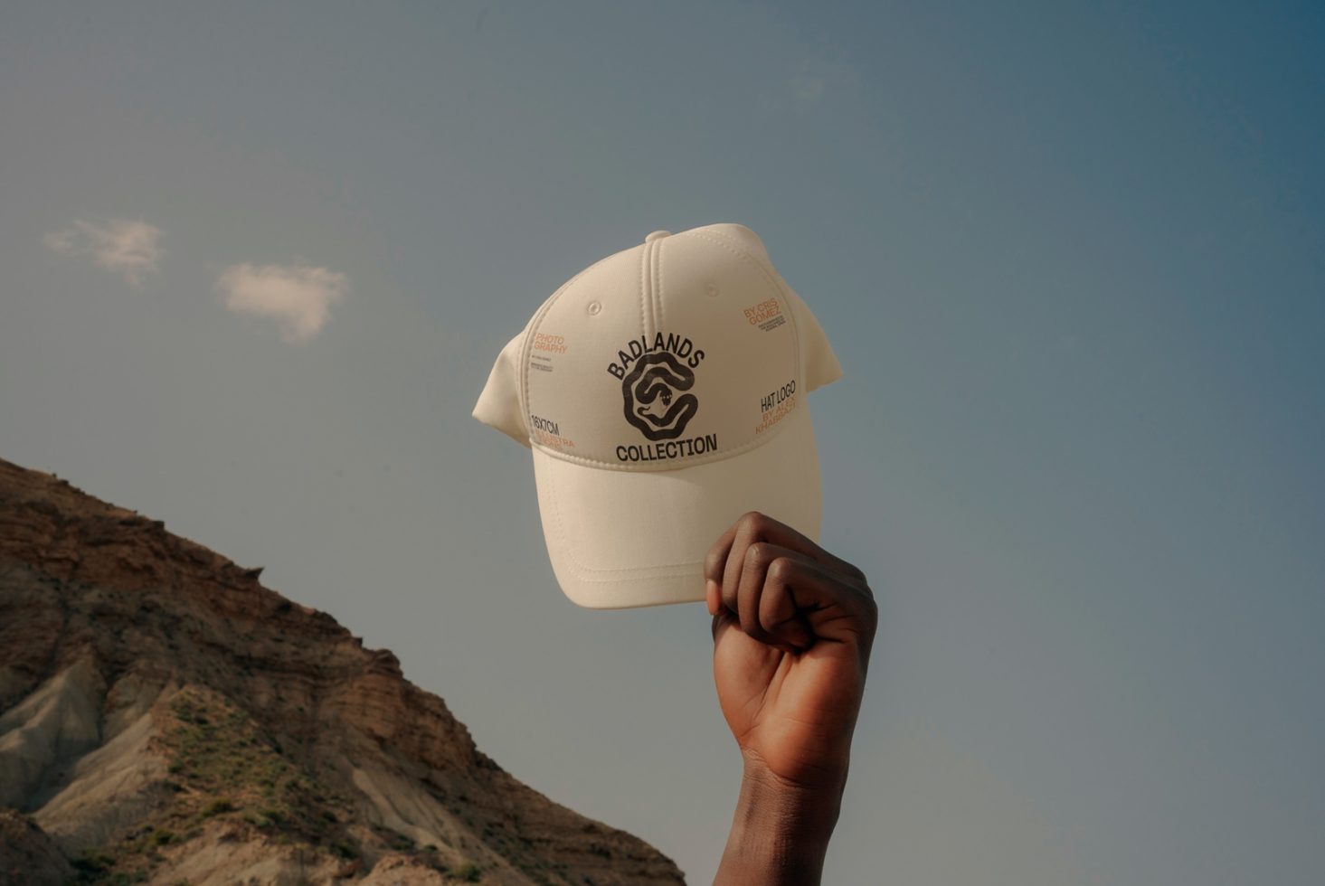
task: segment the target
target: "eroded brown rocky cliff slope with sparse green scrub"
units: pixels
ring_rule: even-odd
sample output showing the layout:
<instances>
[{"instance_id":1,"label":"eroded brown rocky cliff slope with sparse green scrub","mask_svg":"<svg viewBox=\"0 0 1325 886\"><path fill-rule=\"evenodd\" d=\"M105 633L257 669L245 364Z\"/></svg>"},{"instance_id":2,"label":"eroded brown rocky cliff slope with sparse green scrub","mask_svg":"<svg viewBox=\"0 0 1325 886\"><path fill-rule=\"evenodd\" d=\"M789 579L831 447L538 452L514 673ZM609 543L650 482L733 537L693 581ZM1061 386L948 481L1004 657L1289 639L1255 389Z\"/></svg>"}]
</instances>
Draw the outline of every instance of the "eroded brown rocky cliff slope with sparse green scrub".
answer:
<instances>
[{"instance_id":1,"label":"eroded brown rocky cliff slope with sparse green scrub","mask_svg":"<svg viewBox=\"0 0 1325 886\"><path fill-rule=\"evenodd\" d=\"M684 883L260 572L0 460L0 883Z\"/></svg>"}]
</instances>

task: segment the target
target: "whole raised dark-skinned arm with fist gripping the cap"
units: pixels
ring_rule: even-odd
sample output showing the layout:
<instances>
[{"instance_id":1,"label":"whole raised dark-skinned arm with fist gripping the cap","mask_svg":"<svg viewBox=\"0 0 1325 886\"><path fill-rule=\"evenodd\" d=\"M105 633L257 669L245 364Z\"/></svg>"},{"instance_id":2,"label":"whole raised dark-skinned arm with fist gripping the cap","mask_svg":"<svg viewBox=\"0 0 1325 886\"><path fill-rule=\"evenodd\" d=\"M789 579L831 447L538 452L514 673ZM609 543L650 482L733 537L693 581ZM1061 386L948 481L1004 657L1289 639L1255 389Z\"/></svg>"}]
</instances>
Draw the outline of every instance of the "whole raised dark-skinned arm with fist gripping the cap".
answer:
<instances>
[{"instance_id":1,"label":"whole raised dark-skinned arm with fist gripping the cap","mask_svg":"<svg viewBox=\"0 0 1325 886\"><path fill-rule=\"evenodd\" d=\"M820 882L878 624L864 573L743 515L705 562L713 674L745 762L714 886Z\"/></svg>"}]
</instances>

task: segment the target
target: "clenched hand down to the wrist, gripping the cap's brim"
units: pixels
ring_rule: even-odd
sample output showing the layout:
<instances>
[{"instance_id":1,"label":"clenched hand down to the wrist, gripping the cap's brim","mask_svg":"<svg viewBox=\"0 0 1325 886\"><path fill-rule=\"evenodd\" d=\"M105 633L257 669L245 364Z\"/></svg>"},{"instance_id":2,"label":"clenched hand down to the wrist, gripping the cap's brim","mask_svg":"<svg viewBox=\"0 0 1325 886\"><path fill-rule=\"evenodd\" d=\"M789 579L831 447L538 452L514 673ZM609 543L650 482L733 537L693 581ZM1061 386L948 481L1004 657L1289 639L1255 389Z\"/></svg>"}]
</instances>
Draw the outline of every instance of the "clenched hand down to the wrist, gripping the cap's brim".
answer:
<instances>
[{"instance_id":1,"label":"clenched hand down to the wrist, gripping the cap's brim","mask_svg":"<svg viewBox=\"0 0 1325 886\"><path fill-rule=\"evenodd\" d=\"M713 678L747 780L840 797L878 622L864 573L751 511L705 579Z\"/></svg>"}]
</instances>

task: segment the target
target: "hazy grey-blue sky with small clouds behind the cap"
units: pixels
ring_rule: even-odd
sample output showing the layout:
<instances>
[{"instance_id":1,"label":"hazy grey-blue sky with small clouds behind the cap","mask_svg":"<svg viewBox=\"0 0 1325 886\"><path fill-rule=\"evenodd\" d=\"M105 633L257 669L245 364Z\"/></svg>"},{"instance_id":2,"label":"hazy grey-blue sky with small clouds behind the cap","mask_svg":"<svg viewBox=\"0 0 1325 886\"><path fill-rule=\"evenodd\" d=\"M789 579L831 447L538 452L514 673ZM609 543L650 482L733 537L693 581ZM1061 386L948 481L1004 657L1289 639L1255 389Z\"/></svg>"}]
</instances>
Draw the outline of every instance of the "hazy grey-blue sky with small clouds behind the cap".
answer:
<instances>
[{"instance_id":1,"label":"hazy grey-blue sky with small clouds behind the cap","mask_svg":"<svg viewBox=\"0 0 1325 886\"><path fill-rule=\"evenodd\" d=\"M7 3L0 457L712 882L704 605L556 587L501 347L755 230L880 629L825 883L1325 877L1325 7Z\"/></svg>"}]
</instances>

